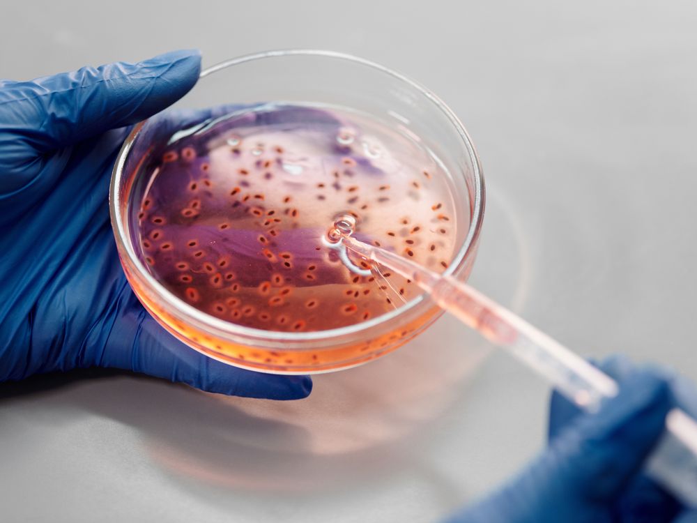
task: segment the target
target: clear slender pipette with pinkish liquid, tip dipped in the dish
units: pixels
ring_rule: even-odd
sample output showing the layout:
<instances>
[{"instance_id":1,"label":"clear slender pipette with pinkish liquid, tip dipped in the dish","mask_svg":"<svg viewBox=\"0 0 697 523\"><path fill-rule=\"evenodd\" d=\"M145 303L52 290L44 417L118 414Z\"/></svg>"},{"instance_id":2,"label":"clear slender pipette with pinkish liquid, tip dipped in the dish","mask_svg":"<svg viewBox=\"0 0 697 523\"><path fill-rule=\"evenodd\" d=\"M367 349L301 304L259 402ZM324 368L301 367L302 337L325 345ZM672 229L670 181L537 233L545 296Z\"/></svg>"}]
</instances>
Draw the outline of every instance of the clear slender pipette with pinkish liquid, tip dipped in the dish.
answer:
<instances>
[{"instance_id":1,"label":"clear slender pipette with pinkish liquid, tip dipped in the dish","mask_svg":"<svg viewBox=\"0 0 697 523\"><path fill-rule=\"evenodd\" d=\"M615 380L510 310L450 275L353 238L354 227L351 218L337 220L328 241L413 281L439 307L510 351L581 409L595 411L618 393ZM668 413L646 471L687 506L697 507L697 422L681 409Z\"/></svg>"}]
</instances>

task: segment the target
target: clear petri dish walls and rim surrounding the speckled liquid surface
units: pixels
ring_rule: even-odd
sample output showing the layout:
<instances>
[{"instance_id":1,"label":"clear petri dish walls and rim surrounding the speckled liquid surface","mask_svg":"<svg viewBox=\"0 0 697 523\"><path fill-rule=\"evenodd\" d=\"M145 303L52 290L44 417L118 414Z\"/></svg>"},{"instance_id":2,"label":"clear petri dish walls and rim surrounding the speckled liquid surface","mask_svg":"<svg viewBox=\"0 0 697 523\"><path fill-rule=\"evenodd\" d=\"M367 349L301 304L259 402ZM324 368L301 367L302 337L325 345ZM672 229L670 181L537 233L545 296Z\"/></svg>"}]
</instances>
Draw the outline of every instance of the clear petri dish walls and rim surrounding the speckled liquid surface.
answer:
<instances>
[{"instance_id":1,"label":"clear petri dish walls and rim surrounding the speckled liquid surface","mask_svg":"<svg viewBox=\"0 0 697 523\"><path fill-rule=\"evenodd\" d=\"M398 128L401 135L419 142L436 160L454 206L452 215L443 218L452 220L448 224L452 230L452 254L447 262L440 261L440 270L461 280L468 278L484 214L484 179L475 148L457 116L434 93L395 71L355 56L321 50L262 52L219 63L202 71L197 85L178 103L133 128L116 160L109 194L121 264L148 312L176 338L211 358L276 374L330 372L360 365L408 342L442 311L428 296L407 292L408 299L392 305L391 310L372 317L366 313L365 320L335 328L259 328L228 321L224 315L207 312L201 304L193 304L186 296L177 294L153 272L152 260L144 252L138 217L144 215L146 195L153 185L153 169L146 166L154 158L167 162L171 160L168 155L187 156L191 148L167 152L167 147L182 135L200 133L201 128L210 126L210 121L223 116L247 114L250 110L258 114L256 108L268 107L269 103L310 106L313 111L341 107ZM296 120L302 120L305 114L291 113ZM345 128L340 129L339 140L345 132ZM227 143L236 149L236 139L228 139ZM208 169L208 164L203 168ZM430 177L427 172L423 174ZM276 182L269 179L265 183ZM179 195L171 194L172 190L163 194L178 198ZM186 218L194 211L182 209ZM406 222L410 210L404 209L404 213L406 218L402 219ZM309 215L312 219L312 213ZM314 225L325 229L330 222L322 220ZM149 234L153 234L150 226ZM235 252L230 255L235 257ZM182 262L181 266L185 265L188 262ZM232 285L244 287L245 283ZM389 297L387 301L392 303Z\"/></svg>"}]
</instances>

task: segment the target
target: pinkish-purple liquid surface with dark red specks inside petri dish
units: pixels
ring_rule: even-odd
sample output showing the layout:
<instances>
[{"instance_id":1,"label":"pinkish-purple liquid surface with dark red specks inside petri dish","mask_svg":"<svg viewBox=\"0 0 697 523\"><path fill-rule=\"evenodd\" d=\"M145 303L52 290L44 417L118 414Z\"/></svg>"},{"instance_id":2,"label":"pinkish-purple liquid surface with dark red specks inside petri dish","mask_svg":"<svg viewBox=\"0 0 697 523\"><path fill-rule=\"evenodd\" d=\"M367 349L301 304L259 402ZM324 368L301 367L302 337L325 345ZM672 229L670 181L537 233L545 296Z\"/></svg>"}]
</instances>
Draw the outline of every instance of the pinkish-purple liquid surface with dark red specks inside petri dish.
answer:
<instances>
[{"instance_id":1,"label":"pinkish-purple liquid surface with dark red specks inside petri dish","mask_svg":"<svg viewBox=\"0 0 697 523\"><path fill-rule=\"evenodd\" d=\"M450 264L463 219L418 139L342 109L259 105L209 119L143 169L132 230L151 274L208 314L265 330L348 326L420 294L342 261L325 239L342 215L355 238L435 271Z\"/></svg>"}]
</instances>

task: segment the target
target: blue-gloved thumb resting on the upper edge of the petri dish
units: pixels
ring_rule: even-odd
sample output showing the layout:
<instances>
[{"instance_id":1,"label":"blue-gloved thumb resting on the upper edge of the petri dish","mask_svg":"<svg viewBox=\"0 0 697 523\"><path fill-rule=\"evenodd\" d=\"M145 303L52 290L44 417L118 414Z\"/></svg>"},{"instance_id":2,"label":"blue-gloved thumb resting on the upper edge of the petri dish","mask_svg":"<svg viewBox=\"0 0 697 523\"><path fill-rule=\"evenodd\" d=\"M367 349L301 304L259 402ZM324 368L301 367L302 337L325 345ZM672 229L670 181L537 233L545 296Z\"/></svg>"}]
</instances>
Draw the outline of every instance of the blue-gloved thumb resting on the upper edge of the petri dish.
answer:
<instances>
[{"instance_id":1,"label":"blue-gloved thumb resting on the upper edge of the petri dish","mask_svg":"<svg viewBox=\"0 0 697 523\"><path fill-rule=\"evenodd\" d=\"M185 50L31 82L0 82L0 195L31 183L45 166L43 154L171 105L197 82L200 68L199 52Z\"/></svg>"}]
</instances>

